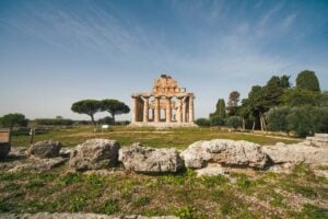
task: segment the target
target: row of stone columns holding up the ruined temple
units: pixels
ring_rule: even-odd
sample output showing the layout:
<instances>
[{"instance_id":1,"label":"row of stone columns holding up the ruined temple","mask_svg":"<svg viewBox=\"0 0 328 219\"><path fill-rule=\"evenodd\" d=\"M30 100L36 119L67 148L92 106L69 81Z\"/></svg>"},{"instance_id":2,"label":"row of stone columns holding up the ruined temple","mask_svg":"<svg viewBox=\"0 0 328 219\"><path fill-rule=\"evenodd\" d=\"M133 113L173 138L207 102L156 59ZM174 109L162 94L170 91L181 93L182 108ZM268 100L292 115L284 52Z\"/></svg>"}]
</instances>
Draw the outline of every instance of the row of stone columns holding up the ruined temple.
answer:
<instances>
[{"instance_id":1,"label":"row of stone columns holding up the ruined temple","mask_svg":"<svg viewBox=\"0 0 328 219\"><path fill-rule=\"evenodd\" d=\"M143 100L140 96L132 96L132 105L133 105L133 112L132 112L132 123L134 122L141 122L140 115L138 112L140 112L141 106L143 111L142 122L148 123L149 122L149 110L150 110L150 103L149 99L150 96L142 96ZM161 106L160 106L160 99L161 96L155 96L155 104L154 104L154 111L153 111L153 118L154 123L160 123L160 113L161 113ZM171 123L172 122L172 97L165 96L165 122ZM176 112L176 120L177 123L194 123L195 116L194 116L194 95L188 96L178 96L178 107ZM188 112L187 112L188 111ZM188 117L187 117L188 116Z\"/></svg>"}]
</instances>

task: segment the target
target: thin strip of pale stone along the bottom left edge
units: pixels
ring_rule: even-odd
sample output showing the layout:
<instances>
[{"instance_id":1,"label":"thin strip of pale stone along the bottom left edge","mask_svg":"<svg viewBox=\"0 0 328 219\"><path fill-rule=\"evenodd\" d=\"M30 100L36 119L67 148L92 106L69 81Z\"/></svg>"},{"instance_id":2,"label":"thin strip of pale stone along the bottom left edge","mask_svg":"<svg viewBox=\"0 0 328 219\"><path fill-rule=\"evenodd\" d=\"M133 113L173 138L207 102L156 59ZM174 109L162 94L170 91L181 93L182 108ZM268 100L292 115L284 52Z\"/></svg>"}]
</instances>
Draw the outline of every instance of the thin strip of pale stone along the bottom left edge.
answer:
<instances>
[{"instance_id":1,"label":"thin strip of pale stone along the bottom left edge","mask_svg":"<svg viewBox=\"0 0 328 219\"><path fill-rule=\"evenodd\" d=\"M144 217L144 216L108 216L97 215L90 212L38 212L38 214L0 214L2 219L179 219L175 216L156 216L156 217Z\"/></svg>"}]
</instances>

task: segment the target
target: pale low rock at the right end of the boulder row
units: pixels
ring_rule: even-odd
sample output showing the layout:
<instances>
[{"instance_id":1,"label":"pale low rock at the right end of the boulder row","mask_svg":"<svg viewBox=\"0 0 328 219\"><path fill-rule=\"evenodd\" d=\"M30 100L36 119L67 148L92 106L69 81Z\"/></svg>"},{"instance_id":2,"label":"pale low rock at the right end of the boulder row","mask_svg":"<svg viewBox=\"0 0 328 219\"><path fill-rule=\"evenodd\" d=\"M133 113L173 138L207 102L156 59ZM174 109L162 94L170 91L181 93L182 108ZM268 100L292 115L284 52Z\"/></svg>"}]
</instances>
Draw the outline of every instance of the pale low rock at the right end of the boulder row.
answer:
<instances>
[{"instance_id":1,"label":"pale low rock at the right end of the boulder row","mask_svg":"<svg viewBox=\"0 0 328 219\"><path fill-rule=\"evenodd\" d=\"M262 147L270 160L276 163L297 163L309 164L328 163L328 148L311 147L303 142L294 145L277 143L276 146Z\"/></svg>"}]
</instances>

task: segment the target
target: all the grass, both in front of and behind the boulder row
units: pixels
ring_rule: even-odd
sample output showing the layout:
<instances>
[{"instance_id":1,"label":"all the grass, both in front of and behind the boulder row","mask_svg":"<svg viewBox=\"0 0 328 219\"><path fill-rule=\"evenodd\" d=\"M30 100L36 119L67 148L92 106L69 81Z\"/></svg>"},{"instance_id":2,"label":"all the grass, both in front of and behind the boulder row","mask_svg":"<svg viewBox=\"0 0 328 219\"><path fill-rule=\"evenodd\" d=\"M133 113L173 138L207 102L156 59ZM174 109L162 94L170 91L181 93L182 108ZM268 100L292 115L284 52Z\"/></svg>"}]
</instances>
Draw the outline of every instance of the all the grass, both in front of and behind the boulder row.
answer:
<instances>
[{"instance_id":1,"label":"all the grass, both in front of and behind the boulder row","mask_svg":"<svg viewBox=\"0 0 328 219\"><path fill-rule=\"evenodd\" d=\"M214 138L261 145L295 142L294 139L209 128L156 131L125 127L107 132L93 132L92 127L51 130L36 135L35 141L54 139L73 147L90 138L116 139L122 146L139 141L151 147L178 149ZM30 136L13 136L12 141L14 147L26 147ZM328 180L316 176L305 164L296 165L291 173L246 171L212 177L197 177L192 170L144 175L119 166L72 173L61 165L45 173L8 173L5 165L0 166L0 212L83 211L175 215L184 219L328 218Z\"/></svg>"}]
</instances>

